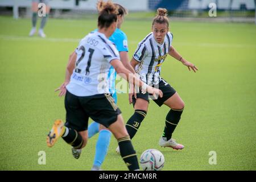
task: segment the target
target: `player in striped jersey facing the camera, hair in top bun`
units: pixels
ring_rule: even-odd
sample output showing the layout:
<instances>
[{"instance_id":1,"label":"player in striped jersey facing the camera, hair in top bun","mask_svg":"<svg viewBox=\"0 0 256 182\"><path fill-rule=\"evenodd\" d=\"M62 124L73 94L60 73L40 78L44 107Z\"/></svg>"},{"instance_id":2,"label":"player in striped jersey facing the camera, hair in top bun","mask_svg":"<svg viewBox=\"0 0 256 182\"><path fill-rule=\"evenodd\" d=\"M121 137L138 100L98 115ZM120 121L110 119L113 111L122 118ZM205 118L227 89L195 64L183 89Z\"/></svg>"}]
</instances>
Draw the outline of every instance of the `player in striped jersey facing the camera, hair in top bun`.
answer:
<instances>
[{"instance_id":1,"label":"player in striped jersey facing the camera, hair in top bun","mask_svg":"<svg viewBox=\"0 0 256 182\"><path fill-rule=\"evenodd\" d=\"M165 127L163 135L159 140L159 145L181 150L184 146L177 143L175 139L172 139L172 133L174 133L180 121L184 109L184 102L176 90L160 77L160 71L163 61L168 54L188 67L189 71L192 69L196 72L197 68L176 51L172 46L172 39L173 35L169 32L167 10L159 8L152 22L152 32L138 44L138 48L134 52L133 59L131 60L131 65L143 82L154 85L155 88L162 90L163 97L159 97L154 102L158 106L164 104L170 107L170 111L166 115ZM146 117L149 104L148 93L137 93L137 99L134 96L131 97L132 95L129 94L129 102L130 104L133 102L135 112L126 123L126 129L131 139L137 133L144 117ZM119 152L118 147L117 152Z\"/></svg>"}]
</instances>

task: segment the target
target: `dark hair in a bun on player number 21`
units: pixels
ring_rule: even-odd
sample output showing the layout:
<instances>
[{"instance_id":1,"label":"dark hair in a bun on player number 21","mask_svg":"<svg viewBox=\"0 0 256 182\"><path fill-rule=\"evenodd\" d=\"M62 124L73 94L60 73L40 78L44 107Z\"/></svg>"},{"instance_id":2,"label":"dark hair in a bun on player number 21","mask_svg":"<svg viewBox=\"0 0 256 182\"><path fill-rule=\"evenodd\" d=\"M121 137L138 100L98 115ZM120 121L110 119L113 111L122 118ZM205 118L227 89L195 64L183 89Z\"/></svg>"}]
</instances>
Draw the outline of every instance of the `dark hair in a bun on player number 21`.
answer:
<instances>
[{"instance_id":1,"label":"dark hair in a bun on player number 21","mask_svg":"<svg viewBox=\"0 0 256 182\"><path fill-rule=\"evenodd\" d=\"M111 1L98 1L97 10L100 14L98 16L99 28L108 28L113 22L117 22L117 7Z\"/></svg>"}]
</instances>

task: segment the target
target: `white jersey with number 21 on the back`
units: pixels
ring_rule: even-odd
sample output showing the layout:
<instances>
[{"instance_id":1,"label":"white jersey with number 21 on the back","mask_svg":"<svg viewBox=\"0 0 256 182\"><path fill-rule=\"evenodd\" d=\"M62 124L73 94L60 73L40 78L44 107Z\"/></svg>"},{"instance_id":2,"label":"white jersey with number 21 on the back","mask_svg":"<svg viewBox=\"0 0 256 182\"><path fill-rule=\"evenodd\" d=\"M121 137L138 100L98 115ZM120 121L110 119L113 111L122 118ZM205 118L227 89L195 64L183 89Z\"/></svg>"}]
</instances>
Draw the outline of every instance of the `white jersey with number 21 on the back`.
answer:
<instances>
[{"instance_id":1,"label":"white jersey with number 21 on the back","mask_svg":"<svg viewBox=\"0 0 256 182\"><path fill-rule=\"evenodd\" d=\"M80 97L109 93L110 61L120 60L115 44L104 34L92 32L81 40L76 53L76 67L67 90Z\"/></svg>"}]
</instances>

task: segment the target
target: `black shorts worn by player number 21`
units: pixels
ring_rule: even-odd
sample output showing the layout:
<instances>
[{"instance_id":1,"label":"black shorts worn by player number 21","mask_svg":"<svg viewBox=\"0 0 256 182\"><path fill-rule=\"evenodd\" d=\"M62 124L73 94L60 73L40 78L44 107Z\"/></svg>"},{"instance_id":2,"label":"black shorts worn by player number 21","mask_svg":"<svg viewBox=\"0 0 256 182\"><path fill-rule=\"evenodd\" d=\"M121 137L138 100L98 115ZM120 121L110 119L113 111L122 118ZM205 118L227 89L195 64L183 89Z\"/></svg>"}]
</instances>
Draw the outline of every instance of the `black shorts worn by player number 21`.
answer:
<instances>
[{"instance_id":1,"label":"black shorts worn by player number 21","mask_svg":"<svg viewBox=\"0 0 256 182\"><path fill-rule=\"evenodd\" d=\"M78 97L68 90L65 96L65 109L67 112L65 126L77 131L87 130L89 117L109 127L121 114L110 94Z\"/></svg>"}]
</instances>

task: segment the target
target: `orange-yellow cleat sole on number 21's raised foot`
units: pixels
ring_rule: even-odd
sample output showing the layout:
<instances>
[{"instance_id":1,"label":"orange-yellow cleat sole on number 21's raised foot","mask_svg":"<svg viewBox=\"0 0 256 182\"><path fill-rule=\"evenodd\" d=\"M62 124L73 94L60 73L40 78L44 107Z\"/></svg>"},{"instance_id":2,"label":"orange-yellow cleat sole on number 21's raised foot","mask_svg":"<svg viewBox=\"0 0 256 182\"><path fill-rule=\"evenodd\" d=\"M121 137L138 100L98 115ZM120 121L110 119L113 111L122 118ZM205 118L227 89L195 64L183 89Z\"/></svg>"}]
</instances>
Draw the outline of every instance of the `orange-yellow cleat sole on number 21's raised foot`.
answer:
<instances>
[{"instance_id":1,"label":"orange-yellow cleat sole on number 21's raised foot","mask_svg":"<svg viewBox=\"0 0 256 182\"><path fill-rule=\"evenodd\" d=\"M61 121L60 119L57 119L54 122L52 129L47 136L47 140L46 140L47 146L52 147L57 141L57 139L64 134L64 131L65 130L64 130L63 121Z\"/></svg>"}]
</instances>

